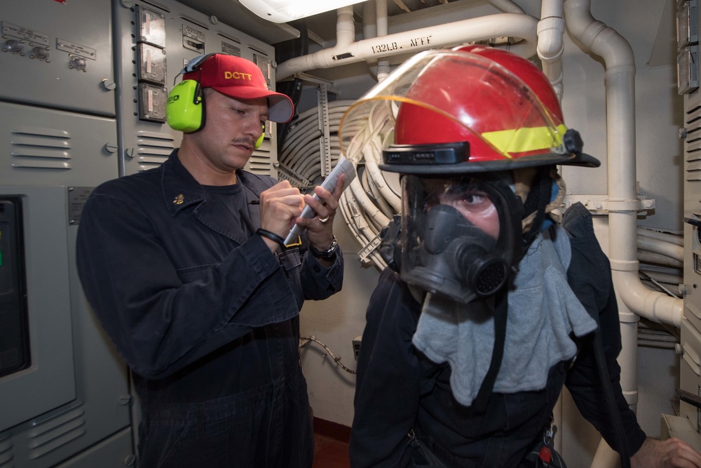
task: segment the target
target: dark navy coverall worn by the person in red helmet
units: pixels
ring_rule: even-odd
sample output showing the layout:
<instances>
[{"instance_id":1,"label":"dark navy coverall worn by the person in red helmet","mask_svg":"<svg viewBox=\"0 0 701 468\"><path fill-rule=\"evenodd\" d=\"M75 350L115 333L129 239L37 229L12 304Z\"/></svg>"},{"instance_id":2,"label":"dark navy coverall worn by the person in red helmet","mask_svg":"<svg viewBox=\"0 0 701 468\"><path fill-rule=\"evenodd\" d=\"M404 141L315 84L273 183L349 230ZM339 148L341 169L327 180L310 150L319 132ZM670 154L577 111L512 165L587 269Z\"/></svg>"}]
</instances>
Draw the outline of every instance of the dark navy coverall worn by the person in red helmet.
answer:
<instances>
[{"instance_id":1,"label":"dark navy coverall worn by the person in red helmet","mask_svg":"<svg viewBox=\"0 0 701 468\"><path fill-rule=\"evenodd\" d=\"M611 267L584 206L570 208L562 227L570 236L572 251L568 282L599 324L608 379L632 455L644 442L645 433L620 388L616 362L621 349L620 326ZM571 368L568 361L550 369L545 389L491 394L484 413L477 413L454 398L447 363L429 361L412 345L419 314L421 305L407 285L398 274L385 269L367 308L358 357L350 446L353 468L525 466L524 456L543 439L563 383L580 412L606 442L614 449L620 447L604 404L603 385L594 361L593 333L580 342ZM410 433L428 446L441 464L430 464L418 455L407 436Z\"/></svg>"}]
</instances>

